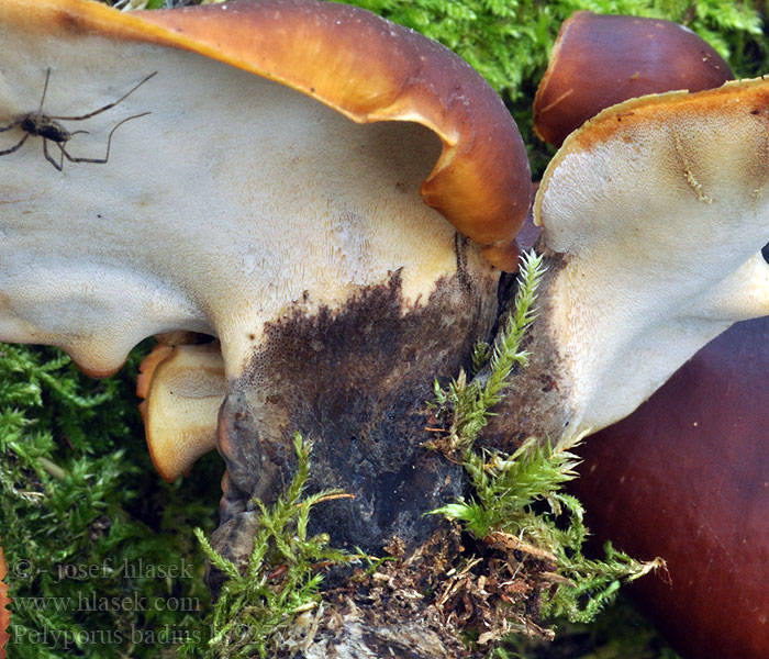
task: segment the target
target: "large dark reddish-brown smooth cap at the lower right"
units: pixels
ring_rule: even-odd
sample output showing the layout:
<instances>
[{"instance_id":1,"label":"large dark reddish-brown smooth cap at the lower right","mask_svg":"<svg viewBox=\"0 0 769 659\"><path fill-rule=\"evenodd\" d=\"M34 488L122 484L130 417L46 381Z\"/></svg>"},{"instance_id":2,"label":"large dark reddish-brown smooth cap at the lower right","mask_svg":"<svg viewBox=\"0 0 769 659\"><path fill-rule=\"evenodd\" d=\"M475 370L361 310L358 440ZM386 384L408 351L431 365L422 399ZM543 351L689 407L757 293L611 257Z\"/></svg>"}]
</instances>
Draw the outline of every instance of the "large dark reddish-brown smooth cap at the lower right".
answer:
<instances>
[{"instance_id":1,"label":"large dark reddish-brown smooth cap at the lower right","mask_svg":"<svg viewBox=\"0 0 769 659\"><path fill-rule=\"evenodd\" d=\"M662 556L632 585L683 657L769 647L769 317L714 339L651 399L578 453L597 548Z\"/></svg>"}]
</instances>

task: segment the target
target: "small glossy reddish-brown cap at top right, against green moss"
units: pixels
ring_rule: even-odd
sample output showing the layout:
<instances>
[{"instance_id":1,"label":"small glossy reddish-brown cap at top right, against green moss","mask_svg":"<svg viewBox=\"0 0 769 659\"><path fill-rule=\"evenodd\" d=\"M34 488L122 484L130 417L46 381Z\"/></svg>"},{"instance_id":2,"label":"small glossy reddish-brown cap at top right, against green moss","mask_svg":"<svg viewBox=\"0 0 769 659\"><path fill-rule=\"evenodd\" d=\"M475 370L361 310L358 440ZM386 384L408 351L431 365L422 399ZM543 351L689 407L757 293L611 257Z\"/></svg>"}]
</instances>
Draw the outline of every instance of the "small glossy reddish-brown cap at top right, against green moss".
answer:
<instances>
[{"instance_id":1,"label":"small glossy reddish-brown cap at top right, against green moss","mask_svg":"<svg viewBox=\"0 0 769 659\"><path fill-rule=\"evenodd\" d=\"M534 98L534 131L560 146L604 108L679 89L720 87L734 76L691 30L670 21L576 12L565 21Z\"/></svg>"}]
</instances>

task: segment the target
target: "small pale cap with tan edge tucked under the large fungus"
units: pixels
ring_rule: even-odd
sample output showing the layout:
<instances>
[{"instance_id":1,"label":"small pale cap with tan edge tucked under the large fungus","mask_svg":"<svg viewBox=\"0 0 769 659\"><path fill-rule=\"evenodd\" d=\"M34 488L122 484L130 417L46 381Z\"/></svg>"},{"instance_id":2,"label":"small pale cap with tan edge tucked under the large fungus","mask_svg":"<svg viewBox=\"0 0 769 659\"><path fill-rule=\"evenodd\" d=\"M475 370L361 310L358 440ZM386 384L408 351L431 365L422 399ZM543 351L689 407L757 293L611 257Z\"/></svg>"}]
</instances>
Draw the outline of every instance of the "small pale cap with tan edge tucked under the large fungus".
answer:
<instances>
[{"instance_id":1,"label":"small pale cap with tan edge tucked under the large fungus","mask_svg":"<svg viewBox=\"0 0 769 659\"><path fill-rule=\"evenodd\" d=\"M216 447L216 417L226 393L219 342L158 345L142 361L136 394L147 448L169 482Z\"/></svg>"}]
</instances>

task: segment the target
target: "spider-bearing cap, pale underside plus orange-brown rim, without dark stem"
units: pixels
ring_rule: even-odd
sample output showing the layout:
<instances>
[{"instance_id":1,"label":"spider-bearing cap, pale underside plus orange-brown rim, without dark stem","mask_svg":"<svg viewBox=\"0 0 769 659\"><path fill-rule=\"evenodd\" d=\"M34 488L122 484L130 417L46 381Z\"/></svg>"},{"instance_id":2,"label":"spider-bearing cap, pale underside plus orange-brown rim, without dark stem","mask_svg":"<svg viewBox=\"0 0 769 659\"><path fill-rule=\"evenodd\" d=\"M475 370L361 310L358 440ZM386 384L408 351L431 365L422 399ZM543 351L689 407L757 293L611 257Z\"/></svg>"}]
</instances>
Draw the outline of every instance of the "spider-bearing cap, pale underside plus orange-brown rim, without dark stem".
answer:
<instances>
[{"instance_id":1,"label":"spider-bearing cap, pale underside plus orange-brown rim, without dark stem","mask_svg":"<svg viewBox=\"0 0 769 659\"><path fill-rule=\"evenodd\" d=\"M145 336L174 330L219 335L237 361L287 300L337 304L393 272L405 302L423 303L467 259L450 226L415 206L420 183L497 265L514 267L531 194L520 135L467 65L411 31L293 0L129 15L5 0L0 31L8 121L38 109L48 68L43 113L56 116L146 80L114 109L62 122L89 132L69 154L100 158L116 123L135 118L116 129L108 164L63 158L57 172L38 136L2 156L5 340L58 345L102 376ZM0 143L22 137L16 127ZM107 252L88 244L96 236Z\"/></svg>"}]
</instances>

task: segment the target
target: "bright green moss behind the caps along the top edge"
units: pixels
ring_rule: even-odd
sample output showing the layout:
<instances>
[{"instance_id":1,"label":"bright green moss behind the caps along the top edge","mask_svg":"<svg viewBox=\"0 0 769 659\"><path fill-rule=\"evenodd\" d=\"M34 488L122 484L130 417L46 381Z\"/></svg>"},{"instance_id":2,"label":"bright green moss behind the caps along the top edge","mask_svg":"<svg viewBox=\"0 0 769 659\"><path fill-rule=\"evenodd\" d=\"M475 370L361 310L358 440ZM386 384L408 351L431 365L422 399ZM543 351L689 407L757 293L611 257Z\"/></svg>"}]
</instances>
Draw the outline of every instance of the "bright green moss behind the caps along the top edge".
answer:
<instances>
[{"instance_id":1,"label":"bright green moss behind the caps along the top edge","mask_svg":"<svg viewBox=\"0 0 769 659\"><path fill-rule=\"evenodd\" d=\"M498 91L527 94L547 66L562 21L573 11L631 14L682 23L705 38L742 74L755 44L767 64L761 19L749 3L724 0L356 0L357 4L439 41L465 58ZM761 69L767 68L760 67Z\"/></svg>"}]
</instances>

